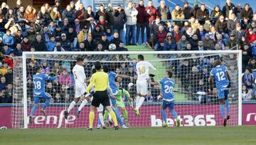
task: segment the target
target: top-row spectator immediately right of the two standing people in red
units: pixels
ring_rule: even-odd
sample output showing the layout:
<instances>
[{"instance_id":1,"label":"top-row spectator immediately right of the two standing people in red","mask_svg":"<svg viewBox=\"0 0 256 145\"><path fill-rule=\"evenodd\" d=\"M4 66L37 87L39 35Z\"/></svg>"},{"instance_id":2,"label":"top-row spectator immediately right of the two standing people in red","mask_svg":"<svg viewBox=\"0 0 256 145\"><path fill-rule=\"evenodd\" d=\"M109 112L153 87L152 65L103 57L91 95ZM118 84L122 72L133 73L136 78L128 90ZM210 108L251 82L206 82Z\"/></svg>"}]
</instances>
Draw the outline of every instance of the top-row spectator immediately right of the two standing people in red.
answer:
<instances>
[{"instance_id":1,"label":"top-row spectator immediately right of the two standing people in red","mask_svg":"<svg viewBox=\"0 0 256 145\"><path fill-rule=\"evenodd\" d=\"M160 1L160 6L157 8L158 18L160 20L170 20L171 19L171 12L169 8L166 6L165 1Z\"/></svg>"}]
</instances>

